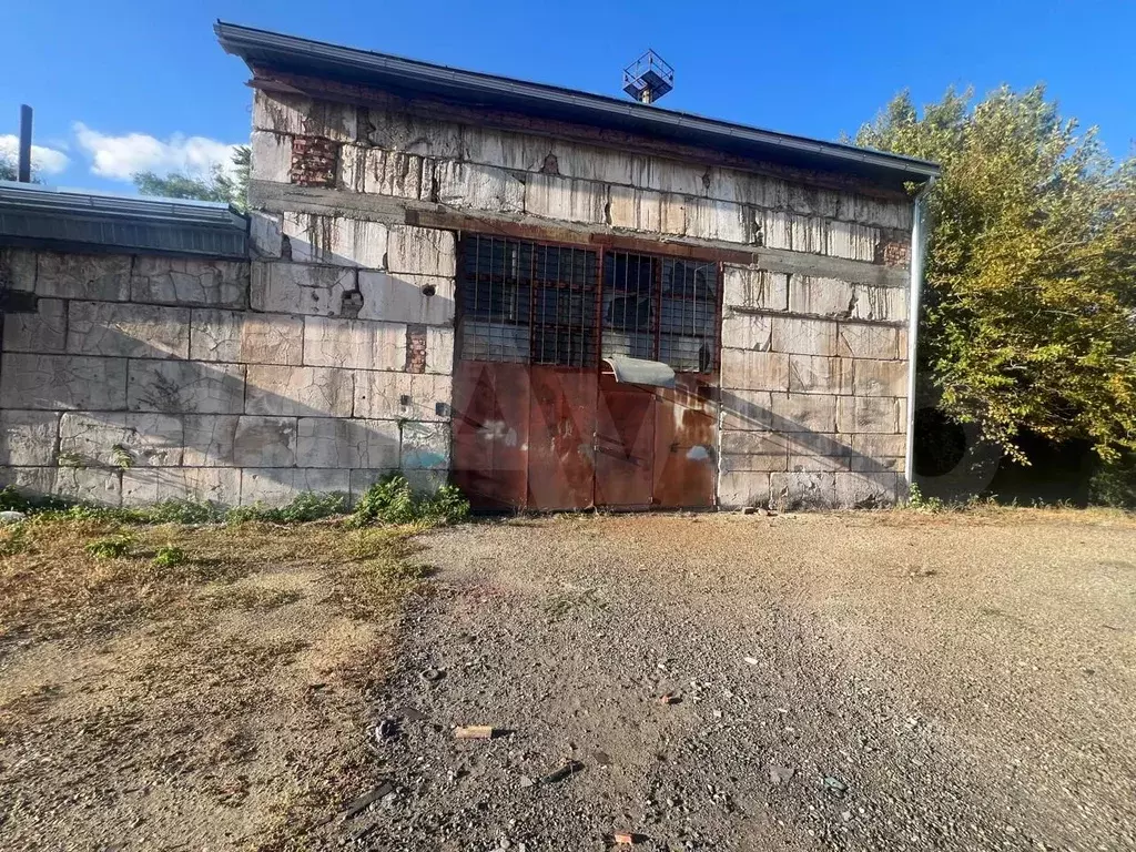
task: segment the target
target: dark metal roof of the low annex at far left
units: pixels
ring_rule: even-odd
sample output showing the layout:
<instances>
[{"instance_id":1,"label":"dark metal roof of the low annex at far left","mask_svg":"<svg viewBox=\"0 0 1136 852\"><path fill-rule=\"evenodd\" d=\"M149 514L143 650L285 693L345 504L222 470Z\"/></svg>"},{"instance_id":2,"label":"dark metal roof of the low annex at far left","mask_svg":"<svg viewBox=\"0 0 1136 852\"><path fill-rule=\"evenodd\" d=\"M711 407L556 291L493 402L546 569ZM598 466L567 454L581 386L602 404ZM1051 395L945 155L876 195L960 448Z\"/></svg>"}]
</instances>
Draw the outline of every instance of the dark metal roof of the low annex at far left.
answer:
<instances>
[{"instance_id":1,"label":"dark metal roof of the low annex at far left","mask_svg":"<svg viewBox=\"0 0 1136 852\"><path fill-rule=\"evenodd\" d=\"M244 258L248 235L248 219L225 203L0 181L0 243Z\"/></svg>"}]
</instances>

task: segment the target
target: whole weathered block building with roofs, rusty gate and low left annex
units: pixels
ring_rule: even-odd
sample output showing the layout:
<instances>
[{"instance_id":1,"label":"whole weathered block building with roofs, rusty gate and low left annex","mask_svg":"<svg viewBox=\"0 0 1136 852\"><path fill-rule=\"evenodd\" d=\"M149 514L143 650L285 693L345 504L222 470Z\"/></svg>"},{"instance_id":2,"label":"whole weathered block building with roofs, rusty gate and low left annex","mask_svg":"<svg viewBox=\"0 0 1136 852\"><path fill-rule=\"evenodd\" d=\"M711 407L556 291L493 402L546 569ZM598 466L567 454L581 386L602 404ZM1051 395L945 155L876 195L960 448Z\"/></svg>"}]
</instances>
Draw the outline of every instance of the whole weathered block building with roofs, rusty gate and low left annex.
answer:
<instances>
[{"instance_id":1,"label":"whole weathered block building with roofs, rusty gate and low left annex","mask_svg":"<svg viewBox=\"0 0 1136 852\"><path fill-rule=\"evenodd\" d=\"M391 470L483 509L903 493L910 186L935 166L217 34L252 74L248 220L0 189L7 482L124 504L357 496Z\"/></svg>"}]
</instances>

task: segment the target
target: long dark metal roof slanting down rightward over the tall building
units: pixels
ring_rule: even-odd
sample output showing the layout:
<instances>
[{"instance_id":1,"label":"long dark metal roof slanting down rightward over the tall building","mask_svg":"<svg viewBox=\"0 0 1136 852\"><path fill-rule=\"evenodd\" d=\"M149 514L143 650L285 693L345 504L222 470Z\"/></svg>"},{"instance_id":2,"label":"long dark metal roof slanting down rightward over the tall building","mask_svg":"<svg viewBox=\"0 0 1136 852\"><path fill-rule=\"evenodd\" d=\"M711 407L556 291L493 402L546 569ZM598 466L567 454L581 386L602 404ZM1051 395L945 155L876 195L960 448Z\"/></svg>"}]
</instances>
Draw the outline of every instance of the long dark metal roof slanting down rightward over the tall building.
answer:
<instances>
[{"instance_id":1,"label":"long dark metal roof slanting down rightward over the tall building","mask_svg":"<svg viewBox=\"0 0 1136 852\"><path fill-rule=\"evenodd\" d=\"M921 182L939 174L934 162L912 157L762 131L618 98L449 68L224 22L217 22L214 30L226 52L239 56L250 68L259 66L367 83L407 97L428 95L462 105L623 130L787 166L855 174L892 185Z\"/></svg>"}]
</instances>

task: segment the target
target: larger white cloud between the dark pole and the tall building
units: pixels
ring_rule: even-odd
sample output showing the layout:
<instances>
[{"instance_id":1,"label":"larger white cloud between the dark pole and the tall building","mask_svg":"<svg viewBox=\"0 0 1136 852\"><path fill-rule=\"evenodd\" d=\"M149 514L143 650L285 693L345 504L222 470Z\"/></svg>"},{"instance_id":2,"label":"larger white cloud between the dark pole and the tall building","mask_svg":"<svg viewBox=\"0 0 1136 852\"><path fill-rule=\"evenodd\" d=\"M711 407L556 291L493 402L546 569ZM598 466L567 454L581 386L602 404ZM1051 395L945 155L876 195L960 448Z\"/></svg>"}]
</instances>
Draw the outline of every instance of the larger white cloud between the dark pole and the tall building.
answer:
<instances>
[{"instance_id":1,"label":"larger white cloud between the dark pole and the tall building","mask_svg":"<svg viewBox=\"0 0 1136 852\"><path fill-rule=\"evenodd\" d=\"M206 136L184 136L175 133L162 141L145 133L110 136L75 123L80 148L93 162L91 172L100 177L130 181L135 172L156 172L167 175L178 172L190 177L207 177L216 164L228 172L236 145Z\"/></svg>"}]
</instances>

